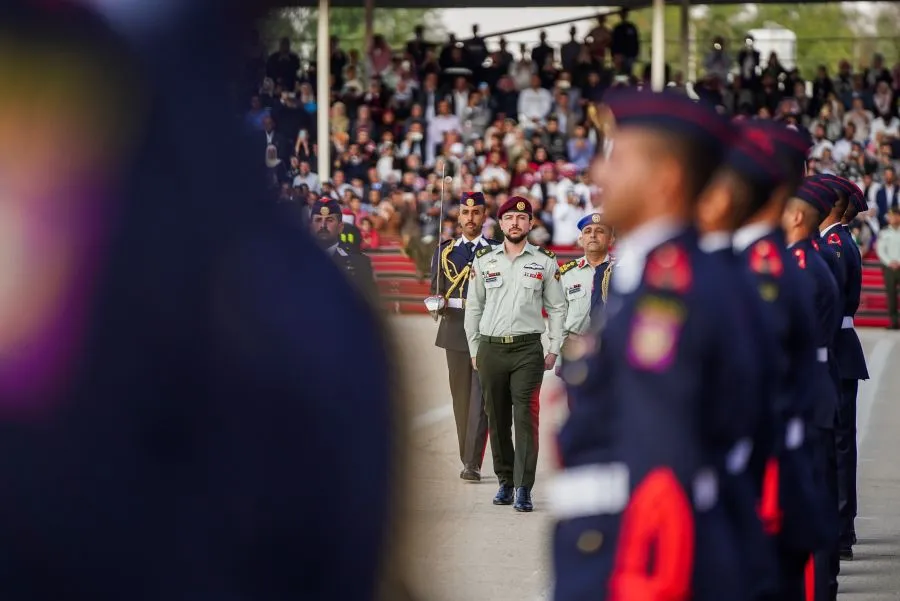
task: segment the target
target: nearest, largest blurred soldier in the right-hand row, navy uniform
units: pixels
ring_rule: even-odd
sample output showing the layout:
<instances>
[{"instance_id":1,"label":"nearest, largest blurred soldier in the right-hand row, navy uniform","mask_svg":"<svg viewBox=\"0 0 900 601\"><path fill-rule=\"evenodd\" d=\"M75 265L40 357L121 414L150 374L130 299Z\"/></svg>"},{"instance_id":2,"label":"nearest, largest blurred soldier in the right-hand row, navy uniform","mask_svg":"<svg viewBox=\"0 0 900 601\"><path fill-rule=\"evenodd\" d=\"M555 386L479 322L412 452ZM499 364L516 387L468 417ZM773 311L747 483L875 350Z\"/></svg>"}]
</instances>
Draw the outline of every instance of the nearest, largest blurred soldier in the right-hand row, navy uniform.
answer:
<instances>
[{"instance_id":1,"label":"nearest, largest blurred soldier in the right-hand row, navy uniform","mask_svg":"<svg viewBox=\"0 0 900 601\"><path fill-rule=\"evenodd\" d=\"M734 132L684 96L617 90L608 105L614 149L591 176L621 241L598 350L570 382L559 436L555 598L747 599L719 466L753 432L759 408L742 391L755 389L743 368L755 357L718 325L745 318L721 302L730 275L691 227Z\"/></svg>"}]
</instances>

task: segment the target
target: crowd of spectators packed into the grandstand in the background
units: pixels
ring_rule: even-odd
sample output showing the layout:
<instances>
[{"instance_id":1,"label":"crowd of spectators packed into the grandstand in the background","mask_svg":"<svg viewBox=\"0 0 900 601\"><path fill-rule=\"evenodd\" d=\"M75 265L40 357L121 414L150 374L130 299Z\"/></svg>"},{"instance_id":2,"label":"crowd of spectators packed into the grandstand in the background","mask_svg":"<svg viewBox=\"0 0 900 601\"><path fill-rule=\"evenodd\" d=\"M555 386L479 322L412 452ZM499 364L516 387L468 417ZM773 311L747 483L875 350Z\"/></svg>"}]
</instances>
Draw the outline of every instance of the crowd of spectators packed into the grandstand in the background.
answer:
<instances>
[{"instance_id":1,"label":"crowd of spectators packed into the grandstand in the background","mask_svg":"<svg viewBox=\"0 0 900 601\"><path fill-rule=\"evenodd\" d=\"M489 210L508 195L526 196L537 221L532 242L575 245L578 220L601 203L586 177L608 145L595 109L611 87L649 85L637 28L627 11L614 19L610 27L599 17L583 40L572 28L560 47L541 32L515 55L503 38L489 47L477 26L469 39L451 35L442 45L426 41L421 27L403 48L375 35L365 53L346 52L333 37L328 107L316 105L315 65L304 66L287 40L269 55L254 39L243 117L261 160L265 153L273 196L301 207L333 196L361 230L363 249L402 245L424 258L423 270L428 248L457 234L454 204L464 190L484 192ZM900 65L891 70L876 55L865 68L844 61L834 75L824 66L801 75L775 53L764 60L752 38L741 42L732 58L726 40L714 40L691 93L737 117L808 127L810 168L850 177L868 194L872 215L857 228L866 244L900 203ZM667 67L666 75L688 93L682 73ZM319 110L329 112L327 181L316 173ZM485 234L501 236L494 220Z\"/></svg>"}]
</instances>

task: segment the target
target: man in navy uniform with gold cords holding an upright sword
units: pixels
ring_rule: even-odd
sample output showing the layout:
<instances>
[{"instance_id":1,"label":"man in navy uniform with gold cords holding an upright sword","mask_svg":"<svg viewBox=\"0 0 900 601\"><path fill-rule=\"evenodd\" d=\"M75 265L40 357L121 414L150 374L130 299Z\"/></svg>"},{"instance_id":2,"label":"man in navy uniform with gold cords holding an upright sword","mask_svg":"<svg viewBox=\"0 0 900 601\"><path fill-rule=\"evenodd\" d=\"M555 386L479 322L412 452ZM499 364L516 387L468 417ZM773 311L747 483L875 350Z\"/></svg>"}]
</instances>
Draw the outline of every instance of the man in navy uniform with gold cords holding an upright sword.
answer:
<instances>
[{"instance_id":1,"label":"man in navy uniform with gold cords holding an upright sword","mask_svg":"<svg viewBox=\"0 0 900 601\"><path fill-rule=\"evenodd\" d=\"M463 465L459 477L470 482L481 481L488 422L481 381L469 356L465 308L475 253L498 244L481 235L486 216L484 194L463 194L459 205L459 225L463 235L442 242L431 259L431 292L443 297L446 303L434 344L444 349L447 355L459 459Z\"/></svg>"}]
</instances>

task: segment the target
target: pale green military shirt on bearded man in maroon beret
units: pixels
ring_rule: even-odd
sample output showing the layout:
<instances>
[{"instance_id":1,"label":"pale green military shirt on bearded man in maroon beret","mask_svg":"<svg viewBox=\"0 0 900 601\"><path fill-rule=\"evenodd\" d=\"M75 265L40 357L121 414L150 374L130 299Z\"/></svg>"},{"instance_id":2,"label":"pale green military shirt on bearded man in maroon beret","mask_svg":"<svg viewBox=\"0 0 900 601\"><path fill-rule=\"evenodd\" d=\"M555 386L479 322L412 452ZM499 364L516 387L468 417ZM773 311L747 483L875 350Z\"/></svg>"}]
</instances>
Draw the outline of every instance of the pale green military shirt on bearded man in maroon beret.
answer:
<instances>
[{"instance_id":1,"label":"pale green military shirt on bearded man in maroon beret","mask_svg":"<svg viewBox=\"0 0 900 601\"><path fill-rule=\"evenodd\" d=\"M482 336L543 334L550 337L548 352L558 355L566 319L566 300L559 282L556 255L526 242L512 261L500 244L475 254L466 299L466 338L469 354L478 354ZM550 325L544 325L541 309Z\"/></svg>"}]
</instances>

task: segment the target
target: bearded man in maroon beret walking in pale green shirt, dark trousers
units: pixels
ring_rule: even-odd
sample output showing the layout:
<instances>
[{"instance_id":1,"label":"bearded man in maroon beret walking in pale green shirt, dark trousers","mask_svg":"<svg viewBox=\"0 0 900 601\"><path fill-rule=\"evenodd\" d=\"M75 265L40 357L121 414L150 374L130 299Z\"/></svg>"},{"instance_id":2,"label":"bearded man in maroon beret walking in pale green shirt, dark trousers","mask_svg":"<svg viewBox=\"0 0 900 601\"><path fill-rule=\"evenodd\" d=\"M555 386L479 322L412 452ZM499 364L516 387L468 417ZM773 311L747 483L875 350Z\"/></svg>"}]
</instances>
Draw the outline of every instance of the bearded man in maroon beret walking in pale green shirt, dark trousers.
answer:
<instances>
[{"instance_id":1,"label":"bearded man in maroon beret walking in pale green shirt, dark trousers","mask_svg":"<svg viewBox=\"0 0 900 601\"><path fill-rule=\"evenodd\" d=\"M475 253L466 301L465 329L472 363L484 390L494 472L495 505L531 511L538 456L538 395L562 343L566 302L555 255L526 240L531 203L514 196L500 207L503 244ZM550 318L544 355L542 309ZM516 437L513 445L512 428Z\"/></svg>"}]
</instances>

